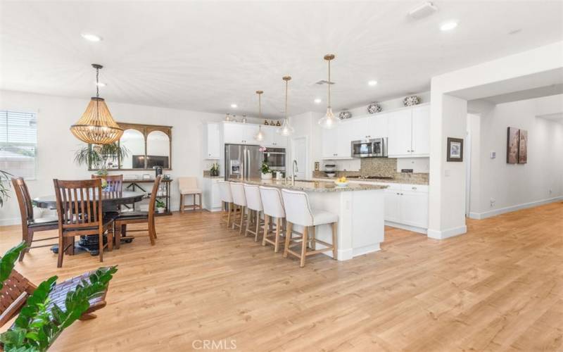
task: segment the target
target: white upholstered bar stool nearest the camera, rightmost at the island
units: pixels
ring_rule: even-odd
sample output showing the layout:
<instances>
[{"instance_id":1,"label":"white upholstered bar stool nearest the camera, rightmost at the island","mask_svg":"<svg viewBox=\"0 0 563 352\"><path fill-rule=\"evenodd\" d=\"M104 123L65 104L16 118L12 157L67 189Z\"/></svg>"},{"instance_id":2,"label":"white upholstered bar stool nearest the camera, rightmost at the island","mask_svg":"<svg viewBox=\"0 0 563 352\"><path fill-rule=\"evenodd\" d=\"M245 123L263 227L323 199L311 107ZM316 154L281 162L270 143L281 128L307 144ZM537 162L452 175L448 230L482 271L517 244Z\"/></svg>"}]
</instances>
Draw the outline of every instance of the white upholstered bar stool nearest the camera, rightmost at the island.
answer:
<instances>
[{"instance_id":1,"label":"white upholstered bar stool nearest the camera, rightmost at the island","mask_svg":"<svg viewBox=\"0 0 563 352\"><path fill-rule=\"evenodd\" d=\"M313 254L332 251L332 258L336 259L336 227L339 216L324 210L312 210L309 203L309 196L303 191L292 191L281 189L281 197L284 200L286 210L287 233L291 234L293 225L303 226L303 238L301 239L301 253L289 249L291 236L286 236L284 258L291 253L301 260L300 266L305 266L305 258ZM320 239L315 239L315 226L330 224L332 226L332 244L328 244ZM312 237L309 239L309 227L312 227ZM308 241L312 242L312 251L307 251ZM325 246L323 249L315 249L315 243ZM293 245L295 246L295 245Z\"/></svg>"}]
</instances>

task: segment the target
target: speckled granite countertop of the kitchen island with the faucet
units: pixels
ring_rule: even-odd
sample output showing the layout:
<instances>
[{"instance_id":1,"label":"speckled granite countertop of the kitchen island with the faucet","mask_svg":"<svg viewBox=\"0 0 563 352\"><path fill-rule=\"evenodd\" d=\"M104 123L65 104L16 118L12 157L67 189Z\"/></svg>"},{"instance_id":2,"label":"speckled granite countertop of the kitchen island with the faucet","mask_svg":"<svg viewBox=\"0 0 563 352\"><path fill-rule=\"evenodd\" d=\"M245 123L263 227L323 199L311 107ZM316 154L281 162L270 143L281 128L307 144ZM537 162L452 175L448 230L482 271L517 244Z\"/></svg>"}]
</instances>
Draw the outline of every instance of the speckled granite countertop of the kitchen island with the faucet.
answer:
<instances>
[{"instance_id":1,"label":"speckled granite countertop of the kitchen island with the faucet","mask_svg":"<svg viewBox=\"0 0 563 352\"><path fill-rule=\"evenodd\" d=\"M259 186L269 186L284 189L293 189L296 191L312 191L312 192L346 192L346 191L372 191L377 189L386 189L387 186L379 186L376 184L357 184L349 183L347 186L336 186L334 182L323 182L323 181L310 181L310 180L298 180L294 184L291 181L286 182L285 180L262 180L262 179L250 179L250 180L237 180L232 179L233 182L244 182L247 184L257 184Z\"/></svg>"}]
</instances>

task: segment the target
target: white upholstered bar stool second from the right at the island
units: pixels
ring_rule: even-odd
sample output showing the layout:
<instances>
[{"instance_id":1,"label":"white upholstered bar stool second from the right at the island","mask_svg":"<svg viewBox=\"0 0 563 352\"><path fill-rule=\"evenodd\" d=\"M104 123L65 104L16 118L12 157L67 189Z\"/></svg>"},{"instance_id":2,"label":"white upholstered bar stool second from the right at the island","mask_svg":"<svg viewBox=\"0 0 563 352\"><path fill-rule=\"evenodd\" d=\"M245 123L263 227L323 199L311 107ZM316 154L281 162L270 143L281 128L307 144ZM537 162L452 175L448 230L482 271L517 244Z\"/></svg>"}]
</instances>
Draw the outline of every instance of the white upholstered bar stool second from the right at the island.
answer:
<instances>
[{"instance_id":1,"label":"white upholstered bar stool second from the right at the island","mask_svg":"<svg viewBox=\"0 0 563 352\"><path fill-rule=\"evenodd\" d=\"M267 243L273 244L274 253L277 253L279 251L281 222L282 220L285 221L286 218L284 201L281 199L281 191L275 187L260 186L260 196L262 198L262 207L264 208L264 236L262 237L262 246L265 246ZM268 237L268 227L272 218L276 220L276 232L273 241Z\"/></svg>"}]
</instances>

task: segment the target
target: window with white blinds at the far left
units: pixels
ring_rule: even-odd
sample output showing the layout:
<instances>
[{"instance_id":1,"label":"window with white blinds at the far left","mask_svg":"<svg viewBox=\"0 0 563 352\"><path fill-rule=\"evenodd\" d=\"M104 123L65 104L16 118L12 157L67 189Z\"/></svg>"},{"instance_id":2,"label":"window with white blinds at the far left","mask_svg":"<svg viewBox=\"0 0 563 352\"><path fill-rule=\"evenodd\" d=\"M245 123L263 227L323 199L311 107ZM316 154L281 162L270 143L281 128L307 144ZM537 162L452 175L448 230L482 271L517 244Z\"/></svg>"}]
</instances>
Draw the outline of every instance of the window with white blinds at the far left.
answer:
<instances>
[{"instance_id":1,"label":"window with white blinds at the far left","mask_svg":"<svg viewBox=\"0 0 563 352\"><path fill-rule=\"evenodd\" d=\"M0 110L0 170L35 178L37 113Z\"/></svg>"}]
</instances>

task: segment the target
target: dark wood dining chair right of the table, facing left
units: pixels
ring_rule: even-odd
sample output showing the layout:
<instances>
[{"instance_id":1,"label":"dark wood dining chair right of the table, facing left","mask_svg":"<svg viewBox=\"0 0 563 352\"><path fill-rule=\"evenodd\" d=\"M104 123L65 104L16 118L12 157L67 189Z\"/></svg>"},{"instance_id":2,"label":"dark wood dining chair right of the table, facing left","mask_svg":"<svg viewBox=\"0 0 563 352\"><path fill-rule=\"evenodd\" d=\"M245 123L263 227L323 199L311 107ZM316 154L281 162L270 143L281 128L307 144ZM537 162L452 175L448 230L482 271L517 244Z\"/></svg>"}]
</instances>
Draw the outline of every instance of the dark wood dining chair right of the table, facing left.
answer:
<instances>
[{"instance_id":1,"label":"dark wood dining chair right of the table, facing left","mask_svg":"<svg viewBox=\"0 0 563 352\"><path fill-rule=\"evenodd\" d=\"M162 175L158 175L156 180L154 180L153 189L151 191L151 199L148 201L148 211L129 211L123 212L115 218L115 248L120 247L120 242L122 239L134 239L137 236L127 235L129 232L139 232L147 231L148 238L151 239L151 245L154 246L154 240L156 239L156 227L154 225L154 210L156 202L156 194L158 193L158 186L160 186L160 180L162 180ZM127 230L128 224L140 224L146 223L148 225L147 230ZM140 237L146 237L140 236Z\"/></svg>"}]
</instances>

